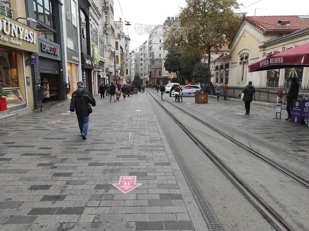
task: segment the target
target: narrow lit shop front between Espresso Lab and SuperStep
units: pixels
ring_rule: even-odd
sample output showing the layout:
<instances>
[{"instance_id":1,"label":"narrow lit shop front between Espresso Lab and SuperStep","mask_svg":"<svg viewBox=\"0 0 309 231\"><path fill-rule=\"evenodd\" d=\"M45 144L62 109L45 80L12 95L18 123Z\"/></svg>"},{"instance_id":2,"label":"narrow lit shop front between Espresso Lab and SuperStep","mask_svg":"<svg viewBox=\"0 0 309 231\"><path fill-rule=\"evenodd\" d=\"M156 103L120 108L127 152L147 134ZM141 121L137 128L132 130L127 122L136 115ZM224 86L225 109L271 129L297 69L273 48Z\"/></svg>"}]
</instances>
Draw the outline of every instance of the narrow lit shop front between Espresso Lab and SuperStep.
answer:
<instances>
[{"instance_id":1,"label":"narrow lit shop front between Espresso Lab and SuperStep","mask_svg":"<svg viewBox=\"0 0 309 231\"><path fill-rule=\"evenodd\" d=\"M68 60L68 80L69 80L69 94L70 98L72 93L77 90L78 82L78 65L79 65L79 54L69 48L66 48L67 60Z\"/></svg>"}]
</instances>

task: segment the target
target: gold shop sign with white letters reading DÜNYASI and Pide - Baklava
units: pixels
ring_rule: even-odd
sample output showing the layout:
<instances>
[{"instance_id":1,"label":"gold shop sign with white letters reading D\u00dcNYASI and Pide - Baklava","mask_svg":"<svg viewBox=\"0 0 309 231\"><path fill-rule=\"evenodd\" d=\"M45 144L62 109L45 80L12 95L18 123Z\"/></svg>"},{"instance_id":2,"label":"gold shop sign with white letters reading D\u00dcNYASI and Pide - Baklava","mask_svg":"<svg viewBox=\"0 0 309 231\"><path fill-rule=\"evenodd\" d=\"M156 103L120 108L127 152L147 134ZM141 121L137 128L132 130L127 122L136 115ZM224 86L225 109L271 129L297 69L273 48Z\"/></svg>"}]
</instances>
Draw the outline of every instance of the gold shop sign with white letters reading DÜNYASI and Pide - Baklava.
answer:
<instances>
[{"instance_id":1,"label":"gold shop sign with white letters reading D\u00dcNYASI and Pide - Baklava","mask_svg":"<svg viewBox=\"0 0 309 231\"><path fill-rule=\"evenodd\" d=\"M24 51L39 52L36 30L0 14L0 44Z\"/></svg>"}]
</instances>

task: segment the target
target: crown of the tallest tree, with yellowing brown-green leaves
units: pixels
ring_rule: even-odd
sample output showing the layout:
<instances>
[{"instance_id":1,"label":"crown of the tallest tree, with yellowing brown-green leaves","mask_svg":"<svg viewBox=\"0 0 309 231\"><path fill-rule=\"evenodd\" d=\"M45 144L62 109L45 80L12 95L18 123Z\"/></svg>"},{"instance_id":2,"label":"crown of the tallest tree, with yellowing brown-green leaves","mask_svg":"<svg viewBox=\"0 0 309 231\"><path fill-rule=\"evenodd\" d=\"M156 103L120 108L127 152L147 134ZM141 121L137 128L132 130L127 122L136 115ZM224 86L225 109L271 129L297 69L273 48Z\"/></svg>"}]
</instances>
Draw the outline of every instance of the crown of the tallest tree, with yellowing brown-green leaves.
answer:
<instances>
[{"instance_id":1,"label":"crown of the tallest tree, with yellowing brown-green leaves","mask_svg":"<svg viewBox=\"0 0 309 231\"><path fill-rule=\"evenodd\" d=\"M189 28L188 37L175 39L172 33L164 34L164 47L182 47L191 56L208 58L210 49L229 44L242 20L234 10L242 4L237 0L186 0L187 5L179 14L180 26ZM166 30L168 31L168 30Z\"/></svg>"}]
</instances>

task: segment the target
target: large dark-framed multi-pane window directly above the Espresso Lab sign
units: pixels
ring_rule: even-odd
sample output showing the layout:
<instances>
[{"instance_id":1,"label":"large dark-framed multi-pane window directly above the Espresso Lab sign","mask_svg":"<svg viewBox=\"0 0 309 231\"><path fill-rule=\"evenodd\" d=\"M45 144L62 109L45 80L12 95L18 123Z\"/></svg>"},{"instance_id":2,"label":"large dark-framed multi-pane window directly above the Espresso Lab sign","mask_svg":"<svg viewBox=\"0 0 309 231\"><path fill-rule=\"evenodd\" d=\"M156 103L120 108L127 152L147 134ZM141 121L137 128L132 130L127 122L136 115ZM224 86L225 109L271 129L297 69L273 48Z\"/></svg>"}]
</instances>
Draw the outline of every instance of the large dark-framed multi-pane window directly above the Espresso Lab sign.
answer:
<instances>
[{"instance_id":1,"label":"large dark-framed multi-pane window directly above the Espresso Lab sign","mask_svg":"<svg viewBox=\"0 0 309 231\"><path fill-rule=\"evenodd\" d=\"M53 0L33 0L36 30L40 37L57 42L55 4Z\"/></svg>"}]
</instances>

